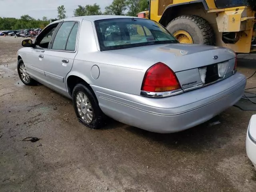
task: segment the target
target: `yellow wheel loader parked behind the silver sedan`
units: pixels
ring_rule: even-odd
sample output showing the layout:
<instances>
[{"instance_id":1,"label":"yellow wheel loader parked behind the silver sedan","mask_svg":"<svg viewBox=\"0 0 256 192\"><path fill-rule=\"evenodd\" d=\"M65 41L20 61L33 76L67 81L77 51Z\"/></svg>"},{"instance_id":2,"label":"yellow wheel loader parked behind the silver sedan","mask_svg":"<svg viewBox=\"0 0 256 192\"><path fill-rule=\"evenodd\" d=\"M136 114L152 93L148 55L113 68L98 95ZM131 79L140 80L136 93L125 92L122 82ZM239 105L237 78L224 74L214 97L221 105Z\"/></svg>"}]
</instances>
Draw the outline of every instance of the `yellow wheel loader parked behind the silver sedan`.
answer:
<instances>
[{"instance_id":1,"label":"yellow wheel loader parked behind the silver sedan","mask_svg":"<svg viewBox=\"0 0 256 192\"><path fill-rule=\"evenodd\" d=\"M138 17L165 26L180 43L256 51L256 0L151 0Z\"/></svg>"}]
</instances>

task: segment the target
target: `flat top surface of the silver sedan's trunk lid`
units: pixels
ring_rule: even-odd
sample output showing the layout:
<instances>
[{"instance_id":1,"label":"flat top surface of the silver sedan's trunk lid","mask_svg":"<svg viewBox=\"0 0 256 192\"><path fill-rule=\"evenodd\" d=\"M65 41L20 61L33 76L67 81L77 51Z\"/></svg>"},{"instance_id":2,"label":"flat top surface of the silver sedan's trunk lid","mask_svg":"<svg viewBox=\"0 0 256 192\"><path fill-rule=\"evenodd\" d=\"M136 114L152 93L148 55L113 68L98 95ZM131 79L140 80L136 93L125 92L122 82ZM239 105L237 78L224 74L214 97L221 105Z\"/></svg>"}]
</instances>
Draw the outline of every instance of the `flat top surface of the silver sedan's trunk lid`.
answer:
<instances>
[{"instance_id":1,"label":"flat top surface of the silver sedan's trunk lid","mask_svg":"<svg viewBox=\"0 0 256 192\"><path fill-rule=\"evenodd\" d=\"M127 58L128 61L130 57L143 60L144 62L138 63L143 65L142 68L145 64L145 67L149 68L152 64L163 62L174 72L223 62L235 57L232 50L197 44L158 44L106 52L112 53L112 56Z\"/></svg>"}]
</instances>

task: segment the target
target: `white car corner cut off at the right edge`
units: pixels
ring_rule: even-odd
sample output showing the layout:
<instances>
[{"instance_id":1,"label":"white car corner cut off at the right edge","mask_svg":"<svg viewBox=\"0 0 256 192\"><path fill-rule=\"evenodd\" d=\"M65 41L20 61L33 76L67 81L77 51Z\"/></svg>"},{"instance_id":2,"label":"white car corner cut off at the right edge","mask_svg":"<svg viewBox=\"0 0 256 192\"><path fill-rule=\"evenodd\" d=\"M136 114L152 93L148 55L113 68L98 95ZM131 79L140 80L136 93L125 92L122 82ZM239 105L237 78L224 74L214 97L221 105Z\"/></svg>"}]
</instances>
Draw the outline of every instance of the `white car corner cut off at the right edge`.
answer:
<instances>
[{"instance_id":1,"label":"white car corner cut off at the right edge","mask_svg":"<svg viewBox=\"0 0 256 192\"><path fill-rule=\"evenodd\" d=\"M248 158L252 161L252 164L254 164L254 167L256 168L256 115L251 117L248 126L246 136L246 152Z\"/></svg>"}]
</instances>

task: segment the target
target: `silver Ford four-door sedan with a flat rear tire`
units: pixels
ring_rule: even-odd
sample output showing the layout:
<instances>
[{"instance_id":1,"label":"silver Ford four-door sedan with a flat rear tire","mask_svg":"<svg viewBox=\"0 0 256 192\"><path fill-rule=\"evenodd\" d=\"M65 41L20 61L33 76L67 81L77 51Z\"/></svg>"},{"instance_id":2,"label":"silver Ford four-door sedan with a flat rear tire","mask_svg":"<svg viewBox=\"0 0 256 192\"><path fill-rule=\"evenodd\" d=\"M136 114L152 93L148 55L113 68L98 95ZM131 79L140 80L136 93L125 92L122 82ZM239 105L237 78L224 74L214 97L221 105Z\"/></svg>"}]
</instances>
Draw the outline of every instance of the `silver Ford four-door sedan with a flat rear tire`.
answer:
<instances>
[{"instance_id":1,"label":"silver Ford four-door sedan with a flat rear tire","mask_svg":"<svg viewBox=\"0 0 256 192\"><path fill-rule=\"evenodd\" d=\"M22 82L72 98L80 122L94 129L106 115L151 132L186 130L234 105L246 85L232 50L179 44L141 18L58 20L22 46Z\"/></svg>"}]
</instances>

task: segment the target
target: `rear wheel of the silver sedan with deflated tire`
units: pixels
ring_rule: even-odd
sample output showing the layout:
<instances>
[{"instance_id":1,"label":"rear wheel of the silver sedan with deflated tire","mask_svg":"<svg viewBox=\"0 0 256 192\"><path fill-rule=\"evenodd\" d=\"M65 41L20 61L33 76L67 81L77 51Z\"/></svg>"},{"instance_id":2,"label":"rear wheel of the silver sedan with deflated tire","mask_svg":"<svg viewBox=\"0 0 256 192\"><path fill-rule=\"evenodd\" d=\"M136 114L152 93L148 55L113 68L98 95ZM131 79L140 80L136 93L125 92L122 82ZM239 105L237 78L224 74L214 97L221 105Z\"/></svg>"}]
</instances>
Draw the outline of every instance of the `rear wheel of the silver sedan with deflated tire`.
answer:
<instances>
[{"instance_id":1,"label":"rear wheel of the silver sedan with deflated tire","mask_svg":"<svg viewBox=\"0 0 256 192\"><path fill-rule=\"evenodd\" d=\"M100 129L104 114L93 91L84 84L77 84L72 99L78 120L89 128Z\"/></svg>"}]
</instances>

